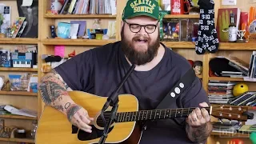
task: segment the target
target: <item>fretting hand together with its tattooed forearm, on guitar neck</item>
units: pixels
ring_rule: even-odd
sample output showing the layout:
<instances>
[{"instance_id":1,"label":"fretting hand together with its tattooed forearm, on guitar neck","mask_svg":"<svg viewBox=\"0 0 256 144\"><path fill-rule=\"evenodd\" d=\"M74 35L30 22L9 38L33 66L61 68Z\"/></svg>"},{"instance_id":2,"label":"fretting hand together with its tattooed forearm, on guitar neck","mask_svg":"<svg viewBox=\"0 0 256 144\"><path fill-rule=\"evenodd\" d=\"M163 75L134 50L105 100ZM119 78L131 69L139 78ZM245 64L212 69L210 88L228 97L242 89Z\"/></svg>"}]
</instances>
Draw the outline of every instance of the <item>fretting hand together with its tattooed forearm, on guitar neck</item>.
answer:
<instances>
[{"instance_id":1,"label":"fretting hand together with its tattooed forearm, on guitar neck","mask_svg":"<svg viewBox=\"0 0 256 144\"><path fill-rule=\"evenodd\" d=\"M207 107L206 102L202 102L199 106ZM210 122L210 115L205 108L201 110L196 108L190 113L186 119L186 134L190 141L200 143L206 142L206 139L210 136L212 130L212 123Z\"/></svg>"}]
</instances>

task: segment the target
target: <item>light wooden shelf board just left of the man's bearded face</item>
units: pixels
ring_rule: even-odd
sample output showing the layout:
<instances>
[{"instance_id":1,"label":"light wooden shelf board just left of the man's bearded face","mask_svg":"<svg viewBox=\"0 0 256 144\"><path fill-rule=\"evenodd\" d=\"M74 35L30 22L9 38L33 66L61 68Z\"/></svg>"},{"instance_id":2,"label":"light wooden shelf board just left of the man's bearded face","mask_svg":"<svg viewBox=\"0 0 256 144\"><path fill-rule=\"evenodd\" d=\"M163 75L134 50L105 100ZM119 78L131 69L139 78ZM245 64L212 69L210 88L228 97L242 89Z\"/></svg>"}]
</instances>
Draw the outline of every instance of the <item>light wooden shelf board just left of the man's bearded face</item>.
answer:
<instances>
[{"instance_id":1,"label":"light wooden shelf board just left of the man's bearded face","mask_svg":"<svg viewBox=\"0 0 256 144\"><path fill-rule=\"evenodd\" d=\"M62 38L46 38L42 40L44 45L69 45L69 46L103 46L115 39L97 40L97 39L62 39Z\"/></svg>"}]
</instances>

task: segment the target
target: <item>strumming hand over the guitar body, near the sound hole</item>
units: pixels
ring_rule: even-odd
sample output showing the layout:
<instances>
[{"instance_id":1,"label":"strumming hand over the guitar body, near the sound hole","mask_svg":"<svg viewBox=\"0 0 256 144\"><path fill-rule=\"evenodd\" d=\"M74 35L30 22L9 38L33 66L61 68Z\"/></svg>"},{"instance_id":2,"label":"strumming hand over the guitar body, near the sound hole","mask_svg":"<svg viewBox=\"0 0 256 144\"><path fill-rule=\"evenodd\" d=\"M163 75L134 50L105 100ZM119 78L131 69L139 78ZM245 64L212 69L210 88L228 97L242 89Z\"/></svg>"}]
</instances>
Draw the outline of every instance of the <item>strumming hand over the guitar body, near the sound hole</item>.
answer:
<instances>
[{"instance_id":1,"label":"strumming hand over the guitar body, near the sound hole","mask_svg":"<svg viewBox=\"0 0 256 144\"><path fill-rule=\"evenodd\" d=\"M94 118L90 118L87 110L76 104L70 105L66 110L66 116L69 121L77 126L79 129L91 133L91 126L89 125Z\"/></svg>"}]
</instances>

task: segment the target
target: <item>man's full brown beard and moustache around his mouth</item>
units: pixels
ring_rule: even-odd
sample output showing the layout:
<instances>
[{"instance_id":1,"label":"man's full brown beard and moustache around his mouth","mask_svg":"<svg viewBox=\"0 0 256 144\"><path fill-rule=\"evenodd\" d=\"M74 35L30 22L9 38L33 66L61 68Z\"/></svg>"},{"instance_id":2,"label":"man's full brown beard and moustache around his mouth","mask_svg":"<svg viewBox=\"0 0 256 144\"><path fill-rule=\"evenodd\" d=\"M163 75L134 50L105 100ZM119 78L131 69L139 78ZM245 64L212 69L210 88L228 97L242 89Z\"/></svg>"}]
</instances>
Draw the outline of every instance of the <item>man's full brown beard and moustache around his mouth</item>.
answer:
<instances>
[{"instance_id":1,"label":"man's full brown beard and moustache around his mouth","mask_svg":"<svg viewBox=\"0 0 256 144\"><path fill-rule=\"evenodd\" d=\"M138 40L139 36L136 36L132 39L132 42L129 42L125 36L124 36L124 32L123 32L124 26L122 27L122 31L121 31L121 47L122 47L122 51L124 52L124 54L126 55L126 58L128 58L128 60L135 65L144 65L147 62L151 62L154 57L158 54L158 48L160 46L160 35L158 34L158 38L151 44L151 39L149 38L144 38L147 40L148 42L148 48L146 51L139 51L136 50L133 46L133 42L135 42L136 40Z\"/></svg>"}]
</instances>

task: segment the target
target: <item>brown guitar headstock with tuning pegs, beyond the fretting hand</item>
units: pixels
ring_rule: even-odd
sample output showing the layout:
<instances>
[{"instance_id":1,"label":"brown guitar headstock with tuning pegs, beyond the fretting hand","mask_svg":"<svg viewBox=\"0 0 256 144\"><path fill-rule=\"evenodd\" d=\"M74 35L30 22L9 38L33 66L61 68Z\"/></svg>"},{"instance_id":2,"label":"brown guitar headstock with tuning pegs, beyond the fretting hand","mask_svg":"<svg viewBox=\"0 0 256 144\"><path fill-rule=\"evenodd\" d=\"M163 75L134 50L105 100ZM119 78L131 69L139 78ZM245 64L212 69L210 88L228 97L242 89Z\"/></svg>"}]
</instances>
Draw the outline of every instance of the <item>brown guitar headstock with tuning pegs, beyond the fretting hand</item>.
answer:
<instances>
[{"instance_id":1,"label":"brown guitar headstock with tuning pegs, beyond the fretting hand","mask_svg":"<svg viewBox=\"0 0 256 144\"><path fill-rule=\"evenodd\" d=\"M226 118L229 120L238 120L245 122L247 119L253 119L254 114L248 112L246 106L213 105L211 115L215 118Z\"/></svg>"}]
</instances>

